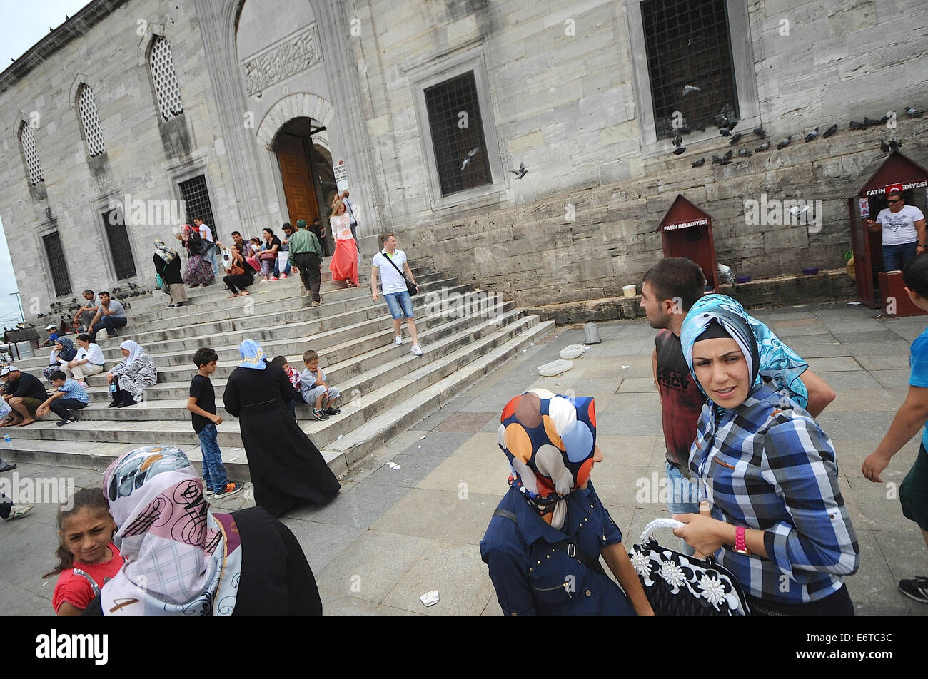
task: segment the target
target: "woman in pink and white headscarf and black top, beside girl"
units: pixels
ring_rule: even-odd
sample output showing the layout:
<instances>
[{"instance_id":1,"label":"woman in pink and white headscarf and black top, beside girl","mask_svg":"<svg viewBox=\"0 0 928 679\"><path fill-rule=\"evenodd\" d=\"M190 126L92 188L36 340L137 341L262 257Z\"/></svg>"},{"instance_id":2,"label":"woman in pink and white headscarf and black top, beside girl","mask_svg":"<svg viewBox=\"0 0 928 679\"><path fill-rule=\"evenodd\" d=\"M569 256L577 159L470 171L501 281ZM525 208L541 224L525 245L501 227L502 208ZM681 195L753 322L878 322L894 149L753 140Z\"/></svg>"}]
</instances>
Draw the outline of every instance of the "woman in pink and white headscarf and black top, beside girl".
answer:
<instances>
[{"instance_id":1,"label":"woman in pink and white headscarf and black top, beside girl","mask_svg":"<svg viewBox=\"0 0 928 679\"><path fill-rule=\"evenodd\" d=\"M261 507L210 511L187 455L145 446L103 477L125 564L84 615L321 615L316 578Z\"/></svg>"}]
</instances>

